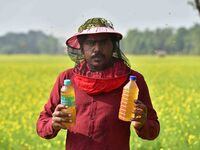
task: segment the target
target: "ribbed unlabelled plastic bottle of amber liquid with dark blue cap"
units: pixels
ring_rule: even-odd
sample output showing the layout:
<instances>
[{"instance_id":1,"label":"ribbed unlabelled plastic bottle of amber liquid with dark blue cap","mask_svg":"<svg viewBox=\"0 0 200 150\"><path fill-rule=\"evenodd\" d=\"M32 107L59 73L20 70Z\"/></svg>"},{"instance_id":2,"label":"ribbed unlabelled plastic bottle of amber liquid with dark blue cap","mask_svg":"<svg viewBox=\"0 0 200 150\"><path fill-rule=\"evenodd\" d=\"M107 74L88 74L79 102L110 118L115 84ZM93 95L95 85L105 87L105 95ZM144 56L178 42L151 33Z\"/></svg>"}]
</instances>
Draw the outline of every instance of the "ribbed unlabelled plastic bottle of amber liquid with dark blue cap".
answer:
<instances>
[{"instance_id":1,"label":"ribbed unlabelled plastic bottle of amber liquid with dark blue cap","mask_svg":"<svg viewBox=\"0 0 200 150\"><path fill-rule=\"evenodd\" d=\"M131 121L134 117L134 100L138 99L139 88L136 84L136 76L130 76L129 82L124 86L119 108L119 119Z\"/></svg>"}]
</instances>

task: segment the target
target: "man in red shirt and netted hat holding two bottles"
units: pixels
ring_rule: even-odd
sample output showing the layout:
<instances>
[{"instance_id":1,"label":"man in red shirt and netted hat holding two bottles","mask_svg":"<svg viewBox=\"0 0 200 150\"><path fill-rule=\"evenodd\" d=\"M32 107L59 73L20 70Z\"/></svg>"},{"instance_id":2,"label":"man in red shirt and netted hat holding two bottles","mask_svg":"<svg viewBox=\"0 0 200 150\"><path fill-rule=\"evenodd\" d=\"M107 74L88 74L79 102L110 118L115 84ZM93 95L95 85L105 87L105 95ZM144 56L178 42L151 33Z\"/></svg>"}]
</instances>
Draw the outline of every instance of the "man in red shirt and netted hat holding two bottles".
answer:
<instances>
[{"instance_id":1,"label":"man in red shirt and netted hat holding two bottles","mask_svg":"<svg viewBox=\"0 0 200 150\"><path fill-rule=\"evenodd\" d=\"M160 130L143 76L130 69L119 49L122 35L104 18L88 19L78 33L66 41L76 66L62 72L37 122L37 133L53 138L71 114L61 112L60 88L70 79L75 89L76 125L67 130L67 150L129 150L130 126L139 137L155 139ZM138 100L132 122L118 119L123 86L130 75L137 77ZM137 143L135 143L137 144Z\"/></svg>"}]
</instances>

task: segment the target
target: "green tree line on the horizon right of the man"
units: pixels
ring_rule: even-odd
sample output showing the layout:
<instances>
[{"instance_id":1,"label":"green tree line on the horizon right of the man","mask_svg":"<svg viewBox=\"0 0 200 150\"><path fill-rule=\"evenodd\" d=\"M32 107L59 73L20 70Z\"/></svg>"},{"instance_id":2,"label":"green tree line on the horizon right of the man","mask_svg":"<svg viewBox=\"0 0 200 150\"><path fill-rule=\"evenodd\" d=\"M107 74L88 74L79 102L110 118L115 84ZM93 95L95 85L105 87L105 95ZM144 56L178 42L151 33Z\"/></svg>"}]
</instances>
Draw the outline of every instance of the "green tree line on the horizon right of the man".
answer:
<instances>
[{"instance_id":1,"label":"green tree line on the horizon right of the man","mask_svg":"<svg viewBox=\"0 0 200 150\"><path fill-rule=\"evenodd\" d=\"M164 28L139 31L129 30L121 47L130 54L154 54L165 51L168 54L200 55L200 25L190 28Z\"/></svg>"}]
</instances>

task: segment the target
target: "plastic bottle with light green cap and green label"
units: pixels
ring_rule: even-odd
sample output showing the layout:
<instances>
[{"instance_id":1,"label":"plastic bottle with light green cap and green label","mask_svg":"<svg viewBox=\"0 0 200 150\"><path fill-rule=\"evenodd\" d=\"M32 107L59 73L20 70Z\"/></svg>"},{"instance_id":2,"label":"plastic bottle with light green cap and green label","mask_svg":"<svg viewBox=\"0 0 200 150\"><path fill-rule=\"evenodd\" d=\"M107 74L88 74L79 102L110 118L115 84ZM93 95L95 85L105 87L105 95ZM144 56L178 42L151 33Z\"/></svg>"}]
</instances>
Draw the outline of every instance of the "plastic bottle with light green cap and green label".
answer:
<instances>
[{"instance_id":1,"label":"plastic bottle with light green cap and green label","mask_svg":"<svg viewBox=\"0 0 200 150\"><path fill-rule=\"evenodd\" d=\"M76 108L74 103L74 97L74 88L71 84L71 81L69 79L64 80L64 85L61 88L61 104L68 106L68 108L63 109L61 111L71 113L72 115L72 122L63 122L63 125L67 129L73 127L76 122Z\"/></svg>"}]
</instances>

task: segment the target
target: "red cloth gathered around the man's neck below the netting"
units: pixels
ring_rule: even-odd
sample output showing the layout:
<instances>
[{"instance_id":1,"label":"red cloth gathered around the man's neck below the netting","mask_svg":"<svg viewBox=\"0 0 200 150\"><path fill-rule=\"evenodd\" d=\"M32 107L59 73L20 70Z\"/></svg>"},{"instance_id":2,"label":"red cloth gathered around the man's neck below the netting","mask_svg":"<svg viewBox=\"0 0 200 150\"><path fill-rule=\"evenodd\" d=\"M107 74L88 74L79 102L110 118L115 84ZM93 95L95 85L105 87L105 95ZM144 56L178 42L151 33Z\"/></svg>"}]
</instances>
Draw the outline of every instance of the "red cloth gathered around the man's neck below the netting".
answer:
<instances>
[{"instance_id":1,"label":"red cloth gathered around the man's neck below the netting","mask_svg":"<svg viewBox=\"0 0 200 150\"><path fill-rule=\"evenodd\" d=\"M84 61L73 71L75 84L88 94L110 92L119 88L128 79L130 68L122 60L115 59L113 65L103 71L93 72Z\"/></svg>"}]
</instances>

